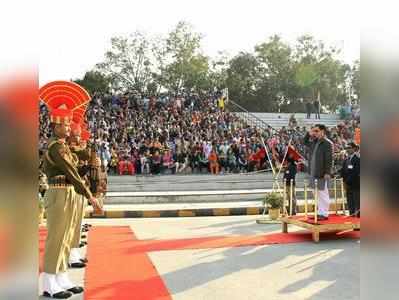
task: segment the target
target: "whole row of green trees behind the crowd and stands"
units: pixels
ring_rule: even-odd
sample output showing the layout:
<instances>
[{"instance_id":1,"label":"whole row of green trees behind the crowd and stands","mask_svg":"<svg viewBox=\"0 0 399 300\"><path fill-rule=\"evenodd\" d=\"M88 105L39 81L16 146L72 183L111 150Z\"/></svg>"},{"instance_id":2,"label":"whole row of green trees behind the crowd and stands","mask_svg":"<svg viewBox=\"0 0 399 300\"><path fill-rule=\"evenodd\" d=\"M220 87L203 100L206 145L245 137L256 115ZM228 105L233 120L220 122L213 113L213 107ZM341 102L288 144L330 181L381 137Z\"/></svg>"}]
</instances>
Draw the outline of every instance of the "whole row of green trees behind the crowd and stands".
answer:
<instances>
[{"instance_id":1,"label":"whole row of green trees behind the crowd and stands","mask_svg":"<svg viewBox=\"0 0 399 300\"><path fill-rule=\"evenodd\" d=\"M340 49L326 47L310 35L294 44L274 35L253 52L210 58L201 49L202 35L179 22L163 37L135 32L111 39L98 74L83 78L91 90L136 89L156 93L228 88L229 97L251 111L305 111L303 100L320 95L323 106L335 110L349 97L360 97L360 65L337 59ZM89 72L88 72L89 73ZM97 78L98 77L98 78Z\"/></svg>"}]
</instances>

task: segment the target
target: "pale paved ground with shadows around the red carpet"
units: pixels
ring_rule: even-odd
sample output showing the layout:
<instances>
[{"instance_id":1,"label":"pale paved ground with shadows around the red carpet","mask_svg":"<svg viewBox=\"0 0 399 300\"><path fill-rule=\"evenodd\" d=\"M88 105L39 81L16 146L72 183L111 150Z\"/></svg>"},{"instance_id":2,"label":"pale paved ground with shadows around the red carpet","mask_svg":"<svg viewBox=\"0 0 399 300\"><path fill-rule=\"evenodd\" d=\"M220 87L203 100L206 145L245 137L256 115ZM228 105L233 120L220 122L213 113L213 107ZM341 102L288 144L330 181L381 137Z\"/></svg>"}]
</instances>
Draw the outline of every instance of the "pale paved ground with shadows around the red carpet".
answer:
<instances>
[{"instance_id":1,"label":"pale paved ground with shadows around the red carpet","mask_svg":"<svg viewBox=\"0 0 399 300\"><path fill-rule=\"evenodd\" d=\"M129 225L138 239L173 239L280 232L258 216L90 219ZM290 231L298 228L290 228ZM260 247L161 251L150 258L173 299L359 299L360 247L355 240ZM83 282L84 271L74 271ZM72 299L83 299L75 296Z\"/></svg>"}]
</instances>

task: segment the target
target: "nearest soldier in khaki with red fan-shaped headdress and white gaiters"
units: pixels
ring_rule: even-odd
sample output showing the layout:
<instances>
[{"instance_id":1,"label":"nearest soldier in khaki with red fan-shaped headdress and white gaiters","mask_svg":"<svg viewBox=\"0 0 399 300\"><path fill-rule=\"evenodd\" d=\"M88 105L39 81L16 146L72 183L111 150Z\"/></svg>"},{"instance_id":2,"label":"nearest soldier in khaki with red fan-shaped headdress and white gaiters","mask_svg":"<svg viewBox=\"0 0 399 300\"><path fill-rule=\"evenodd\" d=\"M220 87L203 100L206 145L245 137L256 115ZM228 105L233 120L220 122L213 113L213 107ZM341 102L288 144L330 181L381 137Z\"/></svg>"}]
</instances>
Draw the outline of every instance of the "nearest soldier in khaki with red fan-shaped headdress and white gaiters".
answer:
<instances>
[{"instance_id":1,"label":"nearest soldier in khaki with red fan-shaped headdress and white gaiters","mask_svg":"<svg viewBox=\"0 0 399 300\"><path fill-rule=\"evenodd\" d=\"M67 89L69 93L65 93ZM44 198L48 234L43 264L43 295L56 299L67 299L83 292L83 288L72 283L67 274L72 226L77 217L76 194L85 196L93 207L101 210L98 200L92 196L80 177L66 142L71 131L72 110L78 108L75 101L68 97L72 94L71 97L78 99L81 90L78 85L61 81L40 89L40 99L50 111L53 134L48 141L43 161L43 172L49 184ZM86 101L88 97L84 96Z\"/></svg>"}]
</instances>

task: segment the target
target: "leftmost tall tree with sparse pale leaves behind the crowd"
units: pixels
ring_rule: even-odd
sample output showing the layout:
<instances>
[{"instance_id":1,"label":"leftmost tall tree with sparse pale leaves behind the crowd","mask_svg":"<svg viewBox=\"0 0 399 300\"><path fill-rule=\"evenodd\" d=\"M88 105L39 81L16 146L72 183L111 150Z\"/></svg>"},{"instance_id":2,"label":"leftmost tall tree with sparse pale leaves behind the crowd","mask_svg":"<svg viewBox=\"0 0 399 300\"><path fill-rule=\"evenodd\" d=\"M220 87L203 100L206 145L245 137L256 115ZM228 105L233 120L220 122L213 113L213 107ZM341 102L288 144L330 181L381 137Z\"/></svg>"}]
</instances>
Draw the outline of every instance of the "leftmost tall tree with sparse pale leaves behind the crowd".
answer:
<instances>
[{"instance_id":1,"label":"leftmost tall tree with sparse pale leaves behind the crowd","mask_svg":"<svg viewBox=\"0 0 399 300\"><path fill-rule=\"evenodd\" d=\"M117 82L122 89L146 90L155 70L155 43L145 34L136 31L129 37L111 39L111 49L97 69Z\"/></svg>"}]
</instances>

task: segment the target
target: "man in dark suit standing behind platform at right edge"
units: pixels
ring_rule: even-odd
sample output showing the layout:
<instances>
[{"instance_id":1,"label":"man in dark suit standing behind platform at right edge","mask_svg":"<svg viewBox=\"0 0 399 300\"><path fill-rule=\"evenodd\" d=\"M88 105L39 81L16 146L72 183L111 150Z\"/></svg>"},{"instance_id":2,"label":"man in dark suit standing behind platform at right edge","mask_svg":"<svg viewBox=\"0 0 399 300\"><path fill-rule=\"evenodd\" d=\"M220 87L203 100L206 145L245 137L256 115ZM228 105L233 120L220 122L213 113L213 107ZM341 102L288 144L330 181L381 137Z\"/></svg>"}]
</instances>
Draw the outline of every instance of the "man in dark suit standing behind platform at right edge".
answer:
<instances>
[{"instance_id":1,"label":"man in dark suit standing behind platform at right edge","mask_svg":"<svg viewBox=\"0 0 399 300\"><path fill-rule=\"evenodd\" d=\"M350 143L346 149L349 154L341 169L344 180L349 214L360 217L360 157L359 146Z\"/></svg>"}]
</instances>

